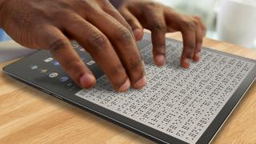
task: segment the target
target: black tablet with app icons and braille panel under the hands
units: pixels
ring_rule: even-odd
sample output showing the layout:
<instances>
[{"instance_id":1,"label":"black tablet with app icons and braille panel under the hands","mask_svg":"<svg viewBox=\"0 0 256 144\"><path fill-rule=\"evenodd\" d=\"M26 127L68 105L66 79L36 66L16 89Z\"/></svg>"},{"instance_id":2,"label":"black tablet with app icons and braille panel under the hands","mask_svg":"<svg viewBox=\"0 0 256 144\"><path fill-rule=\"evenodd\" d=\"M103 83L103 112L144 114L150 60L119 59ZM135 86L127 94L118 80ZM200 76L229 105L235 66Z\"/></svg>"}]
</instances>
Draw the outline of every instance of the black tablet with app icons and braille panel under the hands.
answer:
<instances>
[{"instance_id":1,"label":"black tablet with app icons and braille panel under the hands","mask_svg":"<svg viewBox=\"0 0 256 144\"><path fill-rule=\"evenodd\" d=\"M200 62L179 65L182 42L166 39L166 65L154 66L150 34L138 47L146 64L142 90L115 92L94 59L72 42L97 78L82 90L52 55L40 50L6 66L11 77L62 101L159 143L208 143L214 138L256 77L256 61L202 48Z\"/></svg>"}]
</instances>

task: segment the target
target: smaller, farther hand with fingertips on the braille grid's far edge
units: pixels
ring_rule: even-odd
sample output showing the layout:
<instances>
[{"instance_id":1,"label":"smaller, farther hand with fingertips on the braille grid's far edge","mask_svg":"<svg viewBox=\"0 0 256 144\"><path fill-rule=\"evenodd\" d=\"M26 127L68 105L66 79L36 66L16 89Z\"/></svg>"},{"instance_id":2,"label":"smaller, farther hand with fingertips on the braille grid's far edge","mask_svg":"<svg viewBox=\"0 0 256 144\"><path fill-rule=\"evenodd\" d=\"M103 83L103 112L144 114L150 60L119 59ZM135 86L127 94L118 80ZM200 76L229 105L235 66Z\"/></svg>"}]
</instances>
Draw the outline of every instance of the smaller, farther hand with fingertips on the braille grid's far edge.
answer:
<instances>
[{"instance_id":1,"label":"smaller, farther hand with fingertips on the braille grid's far edge","mask_svg":"<svg viewBox=\"0 0 256 144\"><path fill-rule=\"evenodd\" d=\"M133 29L137 40L143 37L143 28L151 31L154 63L162 66L166 62L166 33L181 31L183 52L181 66L188 68L190 60L199 61L206 26L201 19L178 14L170 7L149 0L126 1L119 12Z\"/></svg>"}]
</instances>

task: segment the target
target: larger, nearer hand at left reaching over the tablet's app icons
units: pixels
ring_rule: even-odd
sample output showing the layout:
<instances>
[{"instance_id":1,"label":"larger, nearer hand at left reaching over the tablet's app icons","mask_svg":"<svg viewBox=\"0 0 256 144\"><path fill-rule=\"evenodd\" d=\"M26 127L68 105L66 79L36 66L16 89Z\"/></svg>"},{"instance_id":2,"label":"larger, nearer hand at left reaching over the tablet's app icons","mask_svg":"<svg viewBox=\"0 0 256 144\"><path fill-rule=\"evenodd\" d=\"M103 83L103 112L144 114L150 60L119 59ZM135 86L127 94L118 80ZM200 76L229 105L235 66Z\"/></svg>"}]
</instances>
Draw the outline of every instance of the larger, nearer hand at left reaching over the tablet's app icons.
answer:
<instances>
[{"instance_id":1,"label":"larger, nearer hand at left reaching over the tablet's app icons","mask_svg":"<svg viewBox=\"0 0 256 144\"><path fill-rule=\"evenodd\" d=\"M109 1L6 0L1 4L0 26L6 33L22 46L50 50L78 86L90 88L96 80L70 39L91 54L115 90L146 84L130 26Z\"/></svg>"}]
</instances>

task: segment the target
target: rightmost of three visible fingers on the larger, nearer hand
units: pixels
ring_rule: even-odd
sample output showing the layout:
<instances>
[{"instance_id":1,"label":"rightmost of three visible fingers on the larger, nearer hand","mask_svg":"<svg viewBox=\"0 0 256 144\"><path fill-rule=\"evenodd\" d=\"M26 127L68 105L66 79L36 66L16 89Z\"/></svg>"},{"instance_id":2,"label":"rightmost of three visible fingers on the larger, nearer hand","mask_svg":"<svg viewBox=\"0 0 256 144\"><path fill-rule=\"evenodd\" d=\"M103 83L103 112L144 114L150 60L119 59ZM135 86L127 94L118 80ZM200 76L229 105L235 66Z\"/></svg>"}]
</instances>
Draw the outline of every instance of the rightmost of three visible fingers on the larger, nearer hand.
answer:
<instances>
[{"instance_id":1,"label":"rightmost of three visible fingers on the larger, nearer hand","mask_svg":"<svg viewBox=\"0 0 256 144\"><path fill-rule=\"evenodd\" d=\"M98 27L98 30L101 30L113 44L114 50L130 78L131 86L136 89L145 86L145 69L138 46L134 41L134 34L109 14L95 13L93 17L88 18L88 21ZM102 21L106 23L102 24Z\"/></svg>"}]
</instances>

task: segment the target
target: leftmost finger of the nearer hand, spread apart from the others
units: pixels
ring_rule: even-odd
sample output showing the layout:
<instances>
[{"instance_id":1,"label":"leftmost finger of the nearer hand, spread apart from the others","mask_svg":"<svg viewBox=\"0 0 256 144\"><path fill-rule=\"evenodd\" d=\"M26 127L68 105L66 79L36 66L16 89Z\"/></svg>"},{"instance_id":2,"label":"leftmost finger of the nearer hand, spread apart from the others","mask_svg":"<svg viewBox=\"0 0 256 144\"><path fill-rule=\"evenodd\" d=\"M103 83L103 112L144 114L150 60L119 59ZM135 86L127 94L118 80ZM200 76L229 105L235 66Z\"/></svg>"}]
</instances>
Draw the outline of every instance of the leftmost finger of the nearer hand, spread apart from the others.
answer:
<instances>
[{"instance_id":1,"label":"leftmost finger of the nearer hand, spread apart from the others","mask_svg":"<svg viewBox=\"0 0 256 144\"><path fill-rule=\"evenodd\" d=\"M70 41L57 27L42 26L38 34L41 47L50 50L67 74L82 88L94 86L96 80L82 59L74 51Z\"/></svg>"}]
</instances>

